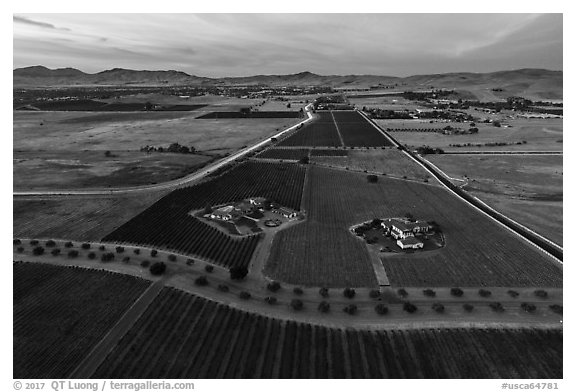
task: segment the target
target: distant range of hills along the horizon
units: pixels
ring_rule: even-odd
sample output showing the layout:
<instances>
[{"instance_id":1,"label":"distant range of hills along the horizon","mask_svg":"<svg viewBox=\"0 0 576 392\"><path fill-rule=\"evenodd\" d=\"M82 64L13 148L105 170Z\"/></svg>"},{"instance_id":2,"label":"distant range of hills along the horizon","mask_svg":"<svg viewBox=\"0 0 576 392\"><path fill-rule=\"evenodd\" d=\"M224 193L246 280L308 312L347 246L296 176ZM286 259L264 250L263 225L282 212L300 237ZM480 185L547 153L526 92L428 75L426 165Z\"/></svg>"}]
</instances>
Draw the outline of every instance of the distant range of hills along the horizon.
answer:
<instances>
[{"instance_id":1,"label":"distant range of hills along the horizon","mask_svg":"<svg viewBox=\"0 0 576 392\"><path fill-rule=\"evenodd\" d=\"M246 77L207 78L180 71L135 71L114 68L95 74L75 68L48 69L43 66L18 68L13 71L14 87L52 86L158 86L158 85L268 85L329 86L333 88L369 88L397 86L400 89L454 88L478 95L562 99L562 71L518 69L491 73L446 73L409 77L378 75L317 75L300 72L289 75L255 75ZM493 91L496 90L496 91ZM499 91L502 90L502 91Z\"/></svg>"}]
</instances>

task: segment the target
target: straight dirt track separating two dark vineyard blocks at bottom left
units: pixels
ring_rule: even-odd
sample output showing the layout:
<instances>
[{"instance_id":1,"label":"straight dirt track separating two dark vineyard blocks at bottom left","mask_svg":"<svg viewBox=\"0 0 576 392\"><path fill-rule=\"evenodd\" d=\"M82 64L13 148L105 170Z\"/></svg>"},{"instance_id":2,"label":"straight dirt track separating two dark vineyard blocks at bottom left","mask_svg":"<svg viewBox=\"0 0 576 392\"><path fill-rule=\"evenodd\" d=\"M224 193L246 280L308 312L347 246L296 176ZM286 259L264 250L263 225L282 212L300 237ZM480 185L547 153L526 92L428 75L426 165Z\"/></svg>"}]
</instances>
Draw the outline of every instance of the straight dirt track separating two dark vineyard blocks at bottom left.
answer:
<instances>
[{"instance_id":1,"label":"straight dirt track separating two dark vineyard blocks at bottom left","mask_svg":"<svg viewBox=\"0 0 576 392\"><path fill-rule=\"evenodd\" d=\"M96 369L104 362L108 354L116 347L120 339L132 328L136 321L144 314L148 306L164 287L164 280L152 283L134 304L118 320L106 336L90 351L78 367L72 372L70 378L90 378Z\"/></svg>"}]
</instances>

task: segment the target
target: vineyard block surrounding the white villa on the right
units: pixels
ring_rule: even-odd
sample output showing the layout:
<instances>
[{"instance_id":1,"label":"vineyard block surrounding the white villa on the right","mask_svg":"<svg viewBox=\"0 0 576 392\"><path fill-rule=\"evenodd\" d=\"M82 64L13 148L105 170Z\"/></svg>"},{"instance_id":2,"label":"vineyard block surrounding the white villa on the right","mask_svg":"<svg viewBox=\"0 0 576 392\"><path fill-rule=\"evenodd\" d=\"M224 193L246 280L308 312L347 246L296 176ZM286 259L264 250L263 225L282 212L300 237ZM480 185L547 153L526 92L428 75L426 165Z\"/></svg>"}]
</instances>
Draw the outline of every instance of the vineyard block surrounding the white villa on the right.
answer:
<instances>
[{"instance_id":1,"label":"vineyard block surrounding the white villa on the right","mask_svg":"<svg viewBox=\"0 0 576 392\"><path fill-rule=\"evenodd\" d=\"M562 287L559 264L443 188L385 177L368 183L366 175L318 166L310 167L308 181L307 221L278 233L272 245L269 272L279 280L312 276L322 283L340 283L348 272L339 266L347 263L367 273L372 269L368 251L356 249L355 241L362 242L348 228L409 212L417 219L436 221L446 246L424 253L382 255L392 286ZM307 242L302 243L306 230L314 234L307 234ZM336 232L341 234L332 234ZM344 234L349 235L347 242ZM319 257L326 252L333 252L332 257ZM320 276L318 270L326 275Z\"/></svg>"}]
</instances>

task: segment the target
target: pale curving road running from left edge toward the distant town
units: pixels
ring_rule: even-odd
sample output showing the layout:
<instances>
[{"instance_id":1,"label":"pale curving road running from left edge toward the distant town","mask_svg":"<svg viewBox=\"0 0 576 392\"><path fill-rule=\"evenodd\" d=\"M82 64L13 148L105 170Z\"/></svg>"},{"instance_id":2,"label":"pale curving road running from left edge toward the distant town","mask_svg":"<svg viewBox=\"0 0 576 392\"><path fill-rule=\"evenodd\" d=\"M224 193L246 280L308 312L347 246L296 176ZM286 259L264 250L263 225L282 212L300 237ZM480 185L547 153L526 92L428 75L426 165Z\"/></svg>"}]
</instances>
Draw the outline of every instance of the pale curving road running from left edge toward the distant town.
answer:
<instances>
[{"instance_id":1,"label":"pale curving road running from left edge toward the distant town","mask_svg":"<svg viewBox=\"0 0 576 392\"><path fill-rule=\"evenodd\" d=\"M178 178L176 180L172 180L172 181L167 181L167 182L163 182L160 184L154 184L154 185L143 185L143 186L135 186L135 187L126 187L126 188L110 188L110 189L85 189L85 190L53 190L53 191L16 191L13 192L13 196L18 197L18 196L61 196L61 195L114 195L114 194L124 194L124 193L133 193L133 192L147 192L147 191L155 191L155 190L162 190L162 189L167 189L167 188L172 188L172 187L177 187L180 185L184 185L190 182L194 182L194 181L198 181L204 177L206 177L208 174L214 172L215 170L218 170L219 168L237 160L240 159L242 157L244 157L246 154L257 150L260 147L265 146L266 144L271 143L270 139L271 138L278 138L282 135L284 135L287 132L290 132L294 129L296 129L300 124L305 124L309 121L311 121L313 119L312 114L310 113L310 109L312 107L312 104L309 104L308 106L306 106L305 109L305 113L307 118L305 120L300 121L298 124L295 124L283 131L280 131L278 133L276 133L275 135L272 135L270 138L266 138L265 140L262 140L252 146L243 148L242 150L226 157L223 158L211 165L208 165L202 169L200 169L199 171L192 173L188 176L182 177L182 178Z\"/></svg>"}]
</instances>

